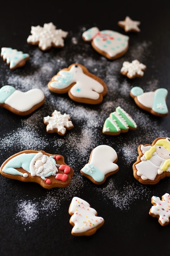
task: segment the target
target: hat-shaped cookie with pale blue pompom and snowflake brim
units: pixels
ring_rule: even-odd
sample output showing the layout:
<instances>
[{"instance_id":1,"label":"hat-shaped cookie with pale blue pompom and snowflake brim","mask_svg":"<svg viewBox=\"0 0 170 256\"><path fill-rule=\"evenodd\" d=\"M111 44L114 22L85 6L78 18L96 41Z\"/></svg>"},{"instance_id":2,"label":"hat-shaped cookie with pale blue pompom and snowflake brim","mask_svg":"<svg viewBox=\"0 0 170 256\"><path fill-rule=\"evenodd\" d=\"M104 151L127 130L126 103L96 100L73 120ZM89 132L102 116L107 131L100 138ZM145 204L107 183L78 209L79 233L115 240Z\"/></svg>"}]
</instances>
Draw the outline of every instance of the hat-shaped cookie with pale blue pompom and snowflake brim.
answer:
<instances>
[{"instance_id":1,"label":"hat-shaped cookie with pale blue pompom and snowflake brim","mask_svg":"<svg viewBox=\"0 0 170 256\"><path fill-rule=\"evenodd\" d=\"M130 90L130 96L135 100L137 106L157 117L168 115L167 95L168 90L165 88L159 88L154 92L144 92L142 88L135 86Z\"/></svg>"}]
</instances>

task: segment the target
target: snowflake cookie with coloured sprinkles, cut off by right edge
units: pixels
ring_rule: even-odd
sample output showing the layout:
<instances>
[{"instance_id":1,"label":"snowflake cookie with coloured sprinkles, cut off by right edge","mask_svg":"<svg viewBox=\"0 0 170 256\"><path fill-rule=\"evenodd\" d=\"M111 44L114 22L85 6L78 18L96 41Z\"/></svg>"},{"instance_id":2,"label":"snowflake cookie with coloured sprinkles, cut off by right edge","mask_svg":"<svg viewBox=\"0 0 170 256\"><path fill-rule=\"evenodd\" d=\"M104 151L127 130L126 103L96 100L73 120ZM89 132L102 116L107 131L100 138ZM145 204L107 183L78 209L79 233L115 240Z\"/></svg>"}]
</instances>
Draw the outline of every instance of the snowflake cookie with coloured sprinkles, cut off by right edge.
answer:
<instances>
[{"instance_id":1,"label":"snowflake cookie with coloured sprinkles, cut off by right edge","mask_svg":"<svg viewBox=\"0 0 170 256\"><path fill-rule=\"evenodd\" d=\"M170 195L165 193L162 200L157 196L152 196L151 203L153 206L149 211L150 216L158 218L161 226L168 225L170 223Z\"/></svg>"}]
</instances>

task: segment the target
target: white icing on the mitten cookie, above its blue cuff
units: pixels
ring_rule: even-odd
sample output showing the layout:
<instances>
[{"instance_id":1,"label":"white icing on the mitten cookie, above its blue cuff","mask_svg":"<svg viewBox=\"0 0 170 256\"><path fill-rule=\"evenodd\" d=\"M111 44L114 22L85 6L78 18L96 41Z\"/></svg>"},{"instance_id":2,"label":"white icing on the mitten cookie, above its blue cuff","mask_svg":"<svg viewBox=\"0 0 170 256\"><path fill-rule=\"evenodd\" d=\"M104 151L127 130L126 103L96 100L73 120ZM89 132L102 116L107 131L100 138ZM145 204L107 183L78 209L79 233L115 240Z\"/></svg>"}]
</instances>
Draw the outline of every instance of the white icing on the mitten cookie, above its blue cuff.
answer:
<instances>
[{"instance_id":1,"label":"white icing on the mitten cookie, above its blue cuff","mask_svg":"<svg viewBox=\"0 0 170 256\"><path fill-rule=\"evenodd\" d=\"M116 171L118 165L113 163L117 159L116 151L108 145L99 145L93 149L90 164L106 175L107 173Z\"/></svg>"}]
</instances>

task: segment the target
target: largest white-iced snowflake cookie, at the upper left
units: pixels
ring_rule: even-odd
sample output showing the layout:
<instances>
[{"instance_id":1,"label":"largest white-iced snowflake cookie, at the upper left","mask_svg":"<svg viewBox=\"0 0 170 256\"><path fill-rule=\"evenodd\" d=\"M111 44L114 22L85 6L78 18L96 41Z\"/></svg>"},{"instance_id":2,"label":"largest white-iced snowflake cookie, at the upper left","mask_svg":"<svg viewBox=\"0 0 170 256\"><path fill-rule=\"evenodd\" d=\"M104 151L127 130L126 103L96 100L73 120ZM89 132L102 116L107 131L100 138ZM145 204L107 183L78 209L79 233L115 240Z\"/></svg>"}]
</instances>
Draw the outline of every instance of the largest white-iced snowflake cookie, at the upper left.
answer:
<instances>
[{"instance_id":1,"label":"largest white-iced snowflake cookie, at the upper left","mask_svg":"<svg viewBox=\"0 0 170 256\"><path fill-rule=\"evenodd\" d=\"M68 35L67 31L56 29L52 22L44 23L44 27L31 26L31 35L27 38L30 45L38 45L42 51L51 47L61 48L64 46L64 38Z\"/></svg>"}]
</instances>

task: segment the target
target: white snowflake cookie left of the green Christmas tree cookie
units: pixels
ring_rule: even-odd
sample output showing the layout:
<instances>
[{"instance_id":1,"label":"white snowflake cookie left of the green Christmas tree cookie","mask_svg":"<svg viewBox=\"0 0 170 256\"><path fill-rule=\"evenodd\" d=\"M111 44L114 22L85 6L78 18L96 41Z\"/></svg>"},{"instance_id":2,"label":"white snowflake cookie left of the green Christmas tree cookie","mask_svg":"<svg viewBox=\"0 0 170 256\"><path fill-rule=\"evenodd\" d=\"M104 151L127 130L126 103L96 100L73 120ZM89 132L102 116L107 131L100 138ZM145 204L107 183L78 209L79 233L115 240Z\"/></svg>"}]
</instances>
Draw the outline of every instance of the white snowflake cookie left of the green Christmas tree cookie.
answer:
<instances>
[{"instance_id":1,"label":"white snowflake cookie left of the green Christmas tree cookie","mask_svg":"<svg viewBox=\"0 0 170 256\"><path fill-rule=\"evenodd\" d=\"M51 117L44 117L44 124L47 125L47 132L57 132L59 135L64 135L66 129L70 130L74 127L70 115L66 113L62 115L61 112L57 110L54 110Z\"/></svg>"}]
</instances>

